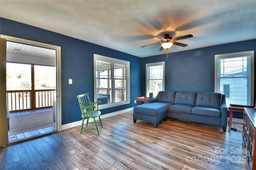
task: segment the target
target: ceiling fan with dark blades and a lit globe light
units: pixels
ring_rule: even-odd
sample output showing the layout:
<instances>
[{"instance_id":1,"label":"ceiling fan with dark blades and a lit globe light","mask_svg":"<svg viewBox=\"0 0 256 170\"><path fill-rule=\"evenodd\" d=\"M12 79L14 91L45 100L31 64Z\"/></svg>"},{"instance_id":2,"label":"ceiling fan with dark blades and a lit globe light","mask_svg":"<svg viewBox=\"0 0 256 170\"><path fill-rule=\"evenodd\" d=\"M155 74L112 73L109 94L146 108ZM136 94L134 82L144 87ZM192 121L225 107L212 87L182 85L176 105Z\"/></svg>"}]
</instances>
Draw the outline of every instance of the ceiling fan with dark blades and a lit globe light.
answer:
<instances>
[{"instance_id":1,"label":"ceiling fan with dark blades and a lit globe light","mask_svg":"<svg viewBox=\"0 0 256 170\"><path fill-rule=\"evenodd\" d=\"M187 44L178 43L175 41L180 40L180 39L190 38L190 37L193 37L193 35L188 34L188 35L184 35L181 37L172 38L172 37L170 37L170 34L165 34L164 37L162 37L160 35L157 35L155 37L161 39L161 42L154 43L154 44L162 44L161 48L159 49L159 51L162 51L163 49L168 50L173 44L179 45L181 47L187 47L188 46ZM149 45L154 45L154 44L149 44ZM140 48L145 48L149 45L144 45L144 46L141 46Z\"/></svg>"}]
</instances>

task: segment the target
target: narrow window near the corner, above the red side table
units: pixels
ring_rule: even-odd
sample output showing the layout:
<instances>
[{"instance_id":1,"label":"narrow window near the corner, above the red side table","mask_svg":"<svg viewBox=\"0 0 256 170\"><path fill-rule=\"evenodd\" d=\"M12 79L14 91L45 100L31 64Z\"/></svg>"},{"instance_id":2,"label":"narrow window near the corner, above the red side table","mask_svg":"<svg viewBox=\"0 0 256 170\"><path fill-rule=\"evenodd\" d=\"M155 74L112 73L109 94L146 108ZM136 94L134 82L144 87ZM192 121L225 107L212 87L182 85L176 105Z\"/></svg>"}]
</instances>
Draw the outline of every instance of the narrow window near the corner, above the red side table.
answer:
<instances>
[{"instance_id":1,"label":"narrow window near the corner, above the red side table","mask_svg":"<svg viewBox=\"0 0 256 170\"><path fill-rule=\"evenodd\" d=\"M164 62L146 64L146 96L164 90Z\"/></svg>"}]
</instances>

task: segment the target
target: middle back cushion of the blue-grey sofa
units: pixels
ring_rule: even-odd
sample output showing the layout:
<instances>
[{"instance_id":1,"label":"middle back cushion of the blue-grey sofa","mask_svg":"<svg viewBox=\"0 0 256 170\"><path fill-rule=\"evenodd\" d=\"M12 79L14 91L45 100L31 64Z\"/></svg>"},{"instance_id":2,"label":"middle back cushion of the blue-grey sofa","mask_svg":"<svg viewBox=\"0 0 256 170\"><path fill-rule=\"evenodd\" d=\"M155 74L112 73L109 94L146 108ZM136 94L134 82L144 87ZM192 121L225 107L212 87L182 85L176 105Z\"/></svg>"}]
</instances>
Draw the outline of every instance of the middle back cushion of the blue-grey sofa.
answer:
<instances>
[{"instance_id":1,"label":"middle back cushion of the blue-grey sofa","mask_svg":"<svg viewBox=\"0 0 256 170\"><path fill-rule=\"evenodd\" d=\"M194 92L176 92L174 104L186 104L195 106L196 93Z\"/></svg>"}]
</instances>

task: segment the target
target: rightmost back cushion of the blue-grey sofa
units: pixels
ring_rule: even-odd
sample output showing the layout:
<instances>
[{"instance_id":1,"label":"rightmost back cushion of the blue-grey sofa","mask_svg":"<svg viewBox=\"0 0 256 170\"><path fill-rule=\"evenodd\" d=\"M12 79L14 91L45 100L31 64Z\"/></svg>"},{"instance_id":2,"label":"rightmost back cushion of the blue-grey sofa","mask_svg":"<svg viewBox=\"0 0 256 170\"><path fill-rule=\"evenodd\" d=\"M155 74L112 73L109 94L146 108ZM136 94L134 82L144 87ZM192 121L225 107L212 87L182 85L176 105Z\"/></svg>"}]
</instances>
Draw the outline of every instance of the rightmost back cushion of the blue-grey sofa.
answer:
<instances>
[{"instance_id":1,"label":"rightmost back cushion of the blue-grey sofa","mask_svg":"<svg viewBox=\"0 0 256 170\"><path fill-rule=\"evenodd\" d=\"M199 92L196 95L196 106L220 108L222 94Z\"/></svg>"}]
</instances>

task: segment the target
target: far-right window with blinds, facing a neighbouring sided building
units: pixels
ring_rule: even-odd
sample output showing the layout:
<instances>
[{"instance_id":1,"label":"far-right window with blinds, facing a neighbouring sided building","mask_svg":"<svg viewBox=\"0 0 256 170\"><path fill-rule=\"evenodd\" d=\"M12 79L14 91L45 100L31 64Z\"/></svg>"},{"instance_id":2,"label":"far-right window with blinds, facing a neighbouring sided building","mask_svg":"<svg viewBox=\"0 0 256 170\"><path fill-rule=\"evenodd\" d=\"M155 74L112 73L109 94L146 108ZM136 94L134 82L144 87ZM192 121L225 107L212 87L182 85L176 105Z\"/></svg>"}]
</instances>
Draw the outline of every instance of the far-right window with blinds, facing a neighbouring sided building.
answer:
<instances>
[{"instance_id":1,"label":"far-right window with blinds, facing a neighbouring sided building","mask_svg":"<svg viewBox=\"0 0 256 170\"><path fill-rule=\"evenodd\" d=\"M254 105L254 51L215 55L215 92L227 106Z\"/></svg>"}]
</instances>

